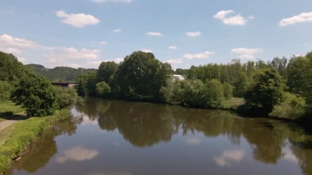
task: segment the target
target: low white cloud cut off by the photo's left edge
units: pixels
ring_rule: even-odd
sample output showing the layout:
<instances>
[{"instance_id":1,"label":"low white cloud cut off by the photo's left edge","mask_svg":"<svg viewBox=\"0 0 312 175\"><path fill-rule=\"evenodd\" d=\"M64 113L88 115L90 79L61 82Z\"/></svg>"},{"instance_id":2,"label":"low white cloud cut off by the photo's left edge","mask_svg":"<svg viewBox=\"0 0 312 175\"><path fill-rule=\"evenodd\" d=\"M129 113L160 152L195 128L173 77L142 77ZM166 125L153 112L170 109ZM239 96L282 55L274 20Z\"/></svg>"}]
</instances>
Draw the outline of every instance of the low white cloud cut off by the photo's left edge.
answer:
<instances>
[{"instance_id":1,"label":"low white cloud cut off by the photo's left edge","mask_svg":"<svg viewBox=\"0 0 312 175\"><path fill-rule=\"evenodd\" d=\"M38 45L36 42L22 38L13 38L11 35L0 35L0 47L12 49L35 49ZM16 50L15 50L16 51Z\"/></svg>"}]
</instances>

